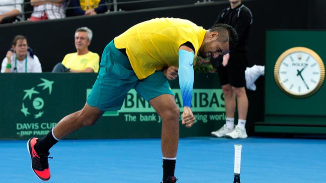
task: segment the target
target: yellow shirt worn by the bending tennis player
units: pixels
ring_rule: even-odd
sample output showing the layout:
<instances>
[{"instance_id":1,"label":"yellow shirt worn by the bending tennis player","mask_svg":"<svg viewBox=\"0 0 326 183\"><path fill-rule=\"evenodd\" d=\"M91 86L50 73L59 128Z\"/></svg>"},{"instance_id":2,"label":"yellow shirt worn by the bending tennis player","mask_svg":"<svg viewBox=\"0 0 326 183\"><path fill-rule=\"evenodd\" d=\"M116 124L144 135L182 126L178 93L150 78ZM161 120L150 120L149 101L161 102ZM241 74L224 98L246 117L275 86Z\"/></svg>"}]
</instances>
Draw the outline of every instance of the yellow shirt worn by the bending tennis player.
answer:
<instances>
[{"instance_id":1,"label":"yellow shirt worn by the bending tennis player","mask_svg":"<svg viewBox=\"0 0 326 183\"><path fill-rule=\"evenodd\" d=\"M114 38L116 48L126 48L130 64L139 79L171 65L179 65L179 47L189 41L195 55L206 30L180 18L155 18L138 23Z\"/></svg>"}]
</instances>

